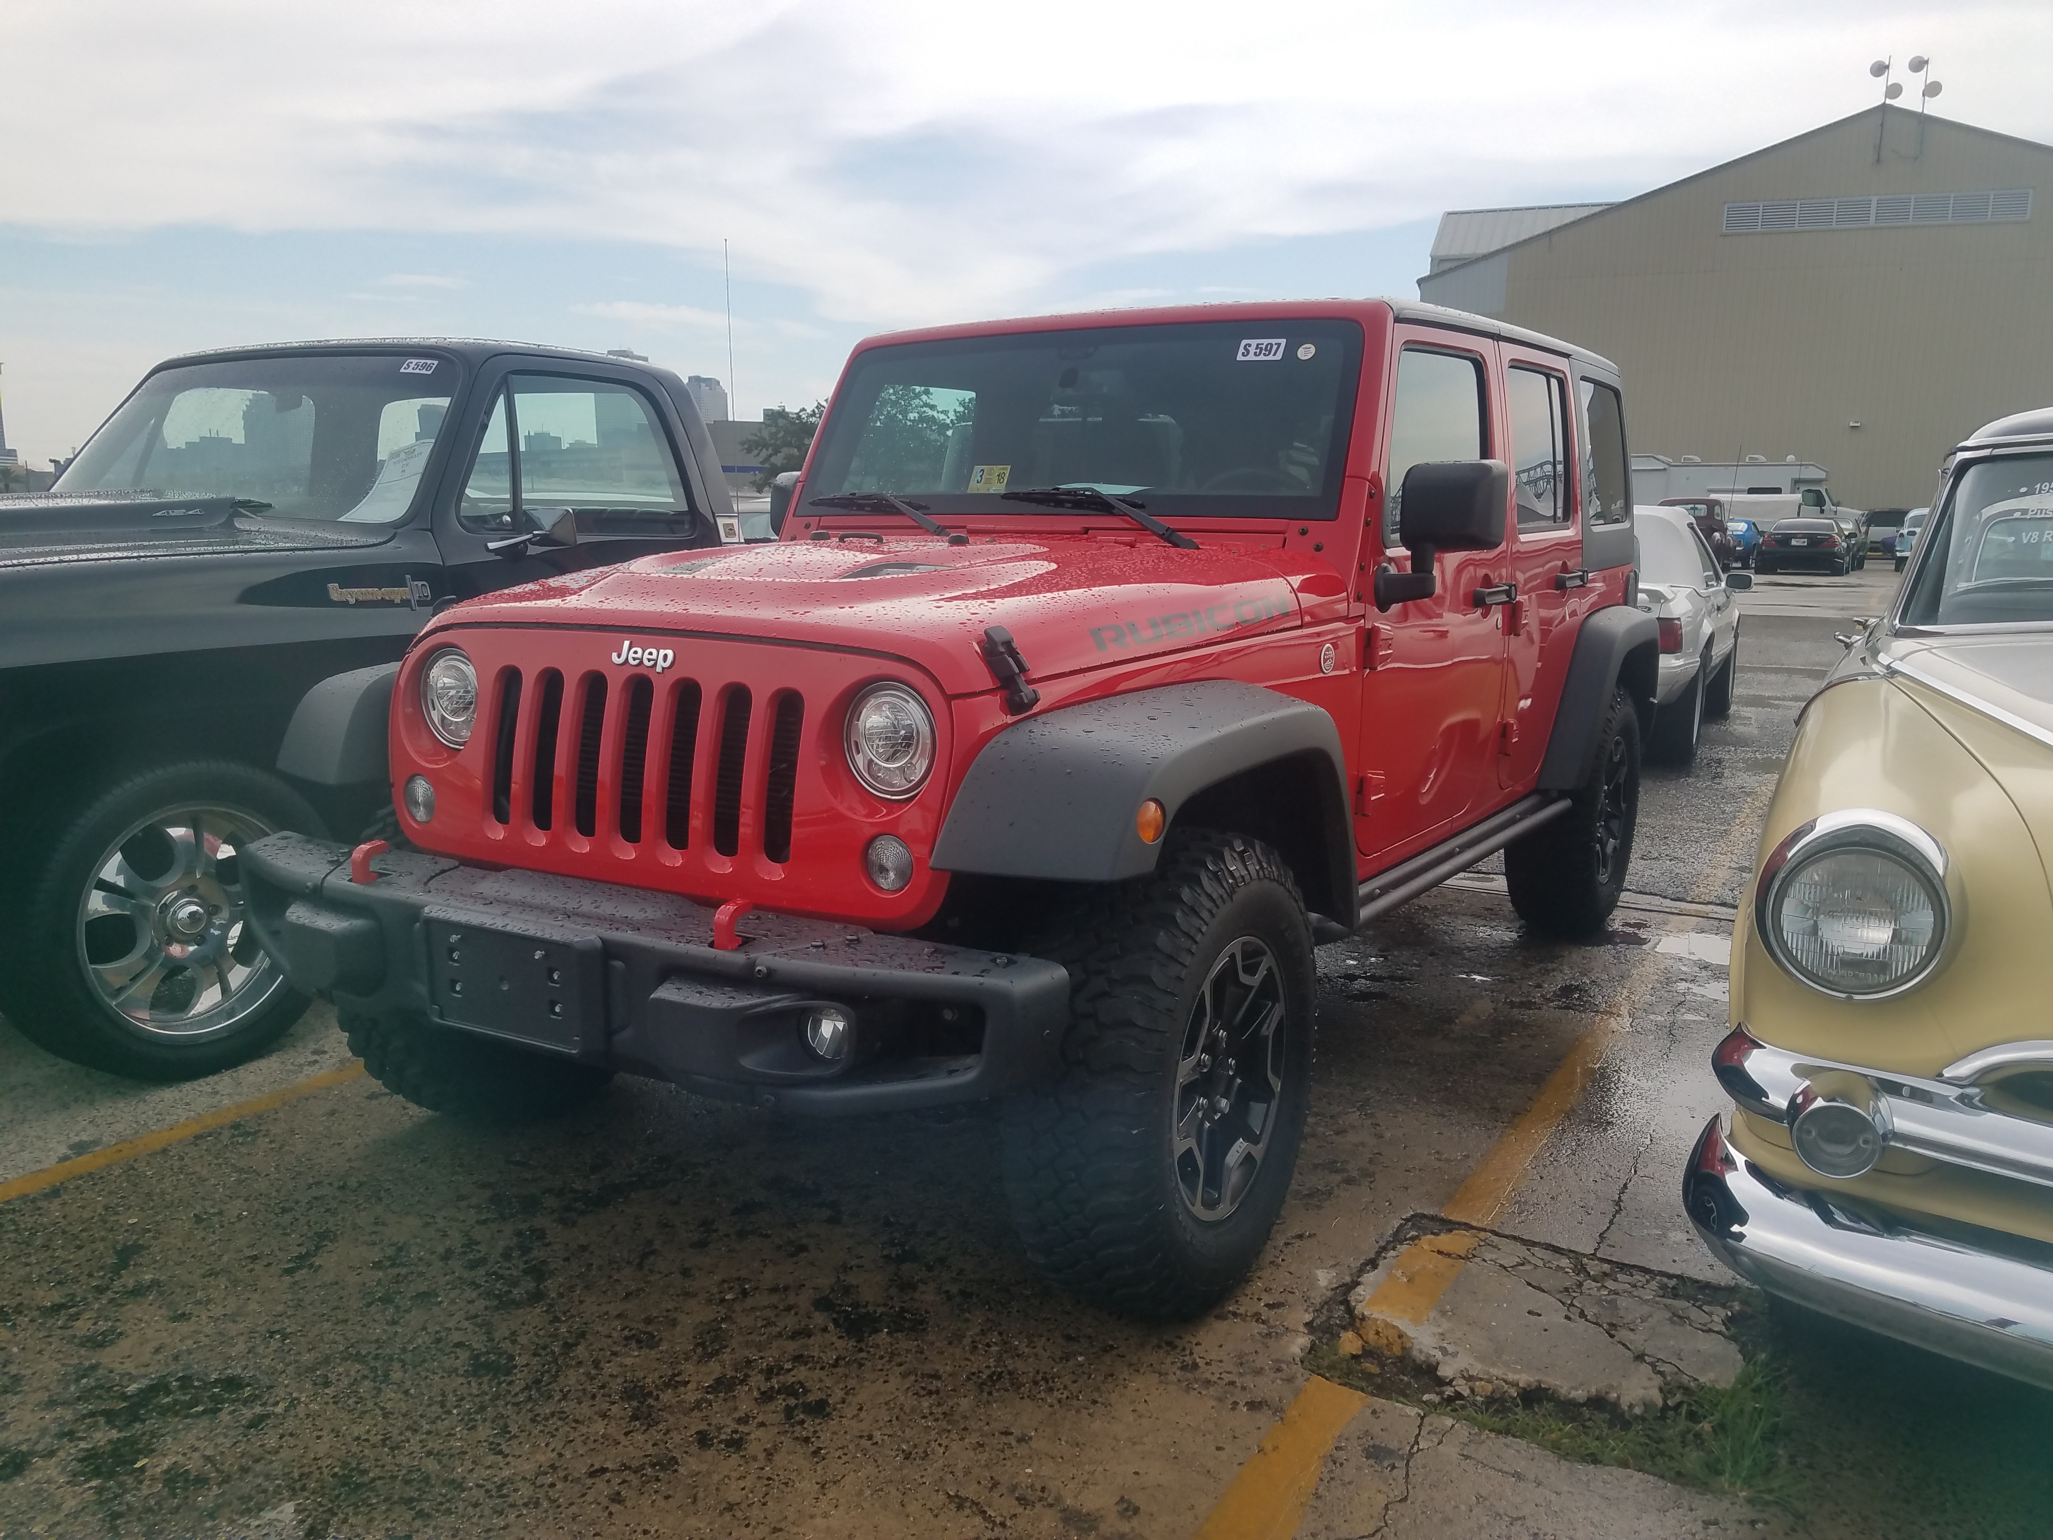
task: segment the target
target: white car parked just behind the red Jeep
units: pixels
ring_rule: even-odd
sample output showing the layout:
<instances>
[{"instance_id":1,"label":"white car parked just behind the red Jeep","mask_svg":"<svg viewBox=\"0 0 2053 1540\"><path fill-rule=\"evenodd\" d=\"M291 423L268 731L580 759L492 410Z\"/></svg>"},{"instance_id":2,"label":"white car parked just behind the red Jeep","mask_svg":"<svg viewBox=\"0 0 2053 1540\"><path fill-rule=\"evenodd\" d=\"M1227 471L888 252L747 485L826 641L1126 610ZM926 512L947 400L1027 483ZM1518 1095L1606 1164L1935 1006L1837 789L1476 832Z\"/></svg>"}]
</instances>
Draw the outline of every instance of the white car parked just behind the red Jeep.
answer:
<instances>
[{"instance_id":1,"label":"white car parked just behind the red Jeep","mask_svg":"<svg viewBox=\"0 0 2053 1540\"><path fill-rule=\"evenodd\" d=\"M1634 509L1632 528L1640 610L1661 626L1655 731L1647 754L1690 764L1704 717L1725 717L1733 708L1733 676L1739 671L1739 604L1733 593L1753 587L1753 575L1720 571L1696 522L1681 509Z\"/></svg>"}]
</instances>

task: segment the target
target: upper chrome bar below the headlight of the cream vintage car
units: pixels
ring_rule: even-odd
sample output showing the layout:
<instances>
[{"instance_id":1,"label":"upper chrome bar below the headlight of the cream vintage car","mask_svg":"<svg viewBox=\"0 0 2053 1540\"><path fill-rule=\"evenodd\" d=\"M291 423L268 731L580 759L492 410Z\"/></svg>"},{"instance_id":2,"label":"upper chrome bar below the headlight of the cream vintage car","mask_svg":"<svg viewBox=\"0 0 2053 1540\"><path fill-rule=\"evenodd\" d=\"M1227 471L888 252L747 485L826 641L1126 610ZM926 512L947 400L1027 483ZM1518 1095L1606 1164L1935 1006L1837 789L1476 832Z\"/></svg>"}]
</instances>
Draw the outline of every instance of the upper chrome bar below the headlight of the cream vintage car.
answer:
<instances>
[{"instance_id":1,"label":"upper chrome bar below the headlight of the cream vintage car","mask_svg":"<svg viewBox=\"0 0 2053 1540\"><path fill-rule=\"evenodd\" d=\"M2053 1057L2053 1043L2014 1043L2012 1049L2032 1062ZM1973 1053L1948 1066L1938 1080L1918 1080L1768 1047L1741 1027L1718 1043L1710 1066L1733 1101L1772 1123L1788 1121L1790 1101L1819 1072L1864 1076L1889 1109L1891 1148L1948 1166L2053 1187L2053 1123L1996 1111L1983 1103L1981 1088L1973 1082L1985 1062L2004 1057L2000 1049Z\"/></svg>"}]
</instances>

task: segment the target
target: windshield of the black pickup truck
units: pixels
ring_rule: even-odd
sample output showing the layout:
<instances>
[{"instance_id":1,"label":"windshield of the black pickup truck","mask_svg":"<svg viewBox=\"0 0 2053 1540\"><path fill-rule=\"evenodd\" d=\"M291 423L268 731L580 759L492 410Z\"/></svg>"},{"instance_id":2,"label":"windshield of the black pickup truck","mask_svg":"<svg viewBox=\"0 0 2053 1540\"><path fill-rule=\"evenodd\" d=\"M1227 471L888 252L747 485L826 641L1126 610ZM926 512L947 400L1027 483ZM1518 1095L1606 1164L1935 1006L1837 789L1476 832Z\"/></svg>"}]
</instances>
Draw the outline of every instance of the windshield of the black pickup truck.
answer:
<instances>
[{"instance_id":1,"label":"windshield of the black pickup truck","mask_svg":"<svg viewBox=\"0 0 2053 1540\"><path fill-rule=\"evenodd\" d=\"M456 390L446 357L224 359L150 376L60 493L242 497L277 517L406 517Z\"/></svg>"}]
</instances>

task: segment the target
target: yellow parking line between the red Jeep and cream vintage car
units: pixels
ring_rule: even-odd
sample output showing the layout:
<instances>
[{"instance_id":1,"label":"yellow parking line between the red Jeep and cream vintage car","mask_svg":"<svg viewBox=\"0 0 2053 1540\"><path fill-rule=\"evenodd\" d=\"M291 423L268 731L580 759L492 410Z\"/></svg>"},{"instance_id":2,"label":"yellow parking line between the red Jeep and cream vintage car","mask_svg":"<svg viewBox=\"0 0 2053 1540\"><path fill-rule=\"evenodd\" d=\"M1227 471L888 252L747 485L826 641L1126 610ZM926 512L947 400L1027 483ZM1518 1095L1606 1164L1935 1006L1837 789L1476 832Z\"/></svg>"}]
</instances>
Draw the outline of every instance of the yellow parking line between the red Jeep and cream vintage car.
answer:
<instances>
[{"instance_id":1,"label":"yellow parking line between the red Jeep and cream vintage car","mask_svg":"<svg viewBox=\"0 0 2053 1540\"><path fill-rule=\"evenodd\" d=\"M1755 832L1772 795L1774 782L1768 782L1733 819L1733 827L1712 850L1704 875L1690 891L1692 903L1706 903L1718 891L1731 862L1743 854L1747 842L1757 838ZM1673 918L1690 916L1677 914ZM1554 1129L1560 1127L1583 1088L1597 1074L1605 1049L1618 1041L1632 1010L1665 971L1667 957L1649 949L1647 957L1626 975L1612 1010L1597 1016L1575 1039L1562 1062L1554 1066L1554 1074L1534 1092L1525 1111L1497 1138L1454 1197L1447 1199L1443 1218L1476 1226L1490 1226L1499 1220L1525 1185L1525 1172L1532 1170L1534 1158L1546 1148ZM1470 1006L1470 1012L1476 1012L1476 1006ZM1390 1265L1384 1281L1369 1296L1369 1304L1400 1320L1423 1324L1454 1279L1468 1267L1468 1257L1480 1242L1480 1236L1464 1230L1421 1236ZM1355 1398L1351 1407L1347 1396ZM1367 1404L1369 1398L1361 1392L1314 1374L1283 1409L1283 1421L1263 1437L1254 1458L1234 1474L1217 1505L1199 1526L1195 1540L1289 1540L1304 1522L1304 1509L1318 1487L1318 1474L1332 1441ZM1349 1407L1345 1415L1341 1415L1343 1407Z\"/></svg>"}]
</instances>

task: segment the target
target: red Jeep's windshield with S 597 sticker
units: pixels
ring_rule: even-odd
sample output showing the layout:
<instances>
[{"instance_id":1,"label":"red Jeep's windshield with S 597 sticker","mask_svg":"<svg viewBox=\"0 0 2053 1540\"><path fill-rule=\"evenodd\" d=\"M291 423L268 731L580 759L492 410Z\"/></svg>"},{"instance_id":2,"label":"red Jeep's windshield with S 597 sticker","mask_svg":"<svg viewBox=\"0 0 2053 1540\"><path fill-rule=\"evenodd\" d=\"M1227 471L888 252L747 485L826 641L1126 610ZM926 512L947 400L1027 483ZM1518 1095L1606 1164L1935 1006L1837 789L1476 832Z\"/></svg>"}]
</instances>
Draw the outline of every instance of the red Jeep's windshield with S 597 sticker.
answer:
<instances>
[{"instance_id":1,"label":"red Jeep's windshield with S 597 sticker","mask_svg":"<svg viewBox=\"0 0 2053 1540\"><path fill-rule=\"evenodd\" d=\"M1330 519L1359 374L1351 320L877 347L836 394L803 495L1033 515L1063 509L996 493L1088 487L1168 519Z\"/></svg>"}]
</instances>

